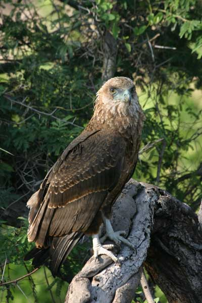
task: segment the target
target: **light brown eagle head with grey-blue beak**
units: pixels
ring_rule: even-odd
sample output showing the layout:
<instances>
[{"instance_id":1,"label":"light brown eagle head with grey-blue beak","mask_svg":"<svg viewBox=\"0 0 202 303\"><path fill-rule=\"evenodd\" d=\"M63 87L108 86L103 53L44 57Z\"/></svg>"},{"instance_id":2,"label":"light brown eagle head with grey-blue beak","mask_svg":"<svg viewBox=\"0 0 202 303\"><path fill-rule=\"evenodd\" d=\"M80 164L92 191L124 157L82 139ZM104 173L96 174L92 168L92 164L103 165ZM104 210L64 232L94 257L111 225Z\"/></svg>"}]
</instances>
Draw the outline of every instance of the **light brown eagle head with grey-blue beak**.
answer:
<instances>
[{"instance_id":1,"label":"light brown eagle head with grey-blue beak","mask_svg":"<svg viewBox=\"0 0 202 303\"><path fill-rule=\"evenodd\" d=\"M120 123L127 128L136 124L140 113L135 86L129 78L111 78L96 93L93 118L102 124Z\"/></svg>"}]
</instances>

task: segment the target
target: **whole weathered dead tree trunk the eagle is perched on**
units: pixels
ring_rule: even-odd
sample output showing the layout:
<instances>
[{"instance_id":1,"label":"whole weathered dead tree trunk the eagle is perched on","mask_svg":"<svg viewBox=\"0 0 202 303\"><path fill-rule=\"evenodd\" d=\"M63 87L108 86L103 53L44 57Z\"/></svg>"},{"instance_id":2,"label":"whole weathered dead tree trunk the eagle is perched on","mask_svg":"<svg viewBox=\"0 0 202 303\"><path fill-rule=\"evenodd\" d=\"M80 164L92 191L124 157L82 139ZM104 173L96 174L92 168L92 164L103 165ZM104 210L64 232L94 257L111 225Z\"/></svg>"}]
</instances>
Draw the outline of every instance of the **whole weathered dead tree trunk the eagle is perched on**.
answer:
<instances>
[{"instance_id":1,"label":"whole weathered dead tree trunk the eagle is perched on","mask_svg":"<svg viewBox=\"0 0 202 303\"><path fill-rule=\"evenodd\" d=\"M169 303L202 303L202 234L197 215L168 192L130 180L113 206L114 230L125 230L121 267L91 257L72 280L65 303L130 302L144 265Z\"/></svg>"}]
</instances>

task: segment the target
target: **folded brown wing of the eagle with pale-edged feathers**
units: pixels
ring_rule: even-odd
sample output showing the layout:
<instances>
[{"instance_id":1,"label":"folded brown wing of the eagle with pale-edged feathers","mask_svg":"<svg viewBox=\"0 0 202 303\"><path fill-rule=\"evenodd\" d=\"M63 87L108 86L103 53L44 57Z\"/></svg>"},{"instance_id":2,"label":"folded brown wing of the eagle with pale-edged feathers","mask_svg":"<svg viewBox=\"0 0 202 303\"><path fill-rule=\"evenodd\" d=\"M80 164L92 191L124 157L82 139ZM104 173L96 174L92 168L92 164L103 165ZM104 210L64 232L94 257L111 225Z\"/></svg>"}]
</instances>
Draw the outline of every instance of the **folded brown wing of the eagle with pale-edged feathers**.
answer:
<instances>
[{"instance_id":1,"label":"folded brown wing of the eagle with pale-edged feathers","mask_svg":"<svg viewBox=\"0 0 202 303\"><path fill-rule=\"evenodd\" d=\"M106 131L77 137L40 187L42 199L34 219L32 215L29 241L42 247L48 237L87 230L120 178L125 145L121 136Z\"/></svg>"}]
</instances>

